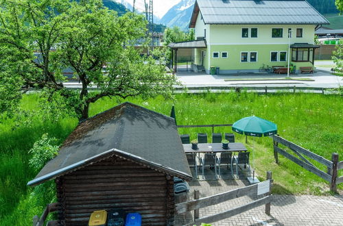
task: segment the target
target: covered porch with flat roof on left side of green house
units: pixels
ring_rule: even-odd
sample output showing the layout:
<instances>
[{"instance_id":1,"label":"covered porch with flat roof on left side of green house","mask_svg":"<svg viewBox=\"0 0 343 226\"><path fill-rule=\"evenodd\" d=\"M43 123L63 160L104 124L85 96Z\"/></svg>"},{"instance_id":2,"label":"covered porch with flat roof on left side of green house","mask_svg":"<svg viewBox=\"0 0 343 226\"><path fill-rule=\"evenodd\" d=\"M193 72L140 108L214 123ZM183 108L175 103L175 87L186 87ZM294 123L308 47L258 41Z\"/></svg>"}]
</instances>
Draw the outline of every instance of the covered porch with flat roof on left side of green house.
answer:
<instances>
[{"instance_id":1,"label":"covered porch with flat roof on left side of green house","mask_svg":"<svg viewBox=\"0 0 343 226\"><path fill-rule=\"evenodd\" d=\"M191 61L186 62L187 68L188 64L191 64L191 71L193 71L193 65L194 65L194 59L195 59L195 49L206 49L206 40L203 38L198 38L198 40L192 40L192 41L186 41L186 42L171 42L168 45L169 48L171 48L171 68L174 70L176 73L178 71L178 50L179 49L191 49L192 50L192 56L191 56ZM204 58L204 54L202 53L202 58ZM200 57L200 58L201 58ZM201 60L201 59L200 59ZM203 60L202 60L203 61ZM187 70L188 71L188 70Z\"/></svg>"}]
</instances>

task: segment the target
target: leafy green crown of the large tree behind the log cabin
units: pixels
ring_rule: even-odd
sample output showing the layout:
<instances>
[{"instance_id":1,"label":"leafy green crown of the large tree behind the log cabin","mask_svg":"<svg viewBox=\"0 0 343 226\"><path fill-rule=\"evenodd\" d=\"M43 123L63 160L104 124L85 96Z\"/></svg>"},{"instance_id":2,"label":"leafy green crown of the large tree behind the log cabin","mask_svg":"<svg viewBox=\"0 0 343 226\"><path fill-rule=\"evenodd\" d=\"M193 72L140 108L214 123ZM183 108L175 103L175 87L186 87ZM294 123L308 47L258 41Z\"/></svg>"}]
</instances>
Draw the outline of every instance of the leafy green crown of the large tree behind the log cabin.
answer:
<instances>
[{"instance_id":1,"label":"leafy green crown of the large tree behind the log cabin","mask_svg":"<svg viewBox=\"0 0 343 226\"><path fill-rule=\"evenodd\" d=\"M16 84L15 89L0 88L0 93L16 91L1 109L14 106L23 87L43 89L43 99L52 103L50 112L64 108L80 121L88 118L90 103L102 97L171 96L176 78L165 72L164 53L142 55L149 41L143 16L117 16L100 0L0 3L0 49L10 53L1 58L12 62L1 70L12 74L14 81L8 82ZM140 40L143 45L137 47ZM25 70L18 71L21 67ZM65 68L80 80L80 92L64 88ZM92 87L99 91L89 92Z\"/></svg>"}]
</instances>

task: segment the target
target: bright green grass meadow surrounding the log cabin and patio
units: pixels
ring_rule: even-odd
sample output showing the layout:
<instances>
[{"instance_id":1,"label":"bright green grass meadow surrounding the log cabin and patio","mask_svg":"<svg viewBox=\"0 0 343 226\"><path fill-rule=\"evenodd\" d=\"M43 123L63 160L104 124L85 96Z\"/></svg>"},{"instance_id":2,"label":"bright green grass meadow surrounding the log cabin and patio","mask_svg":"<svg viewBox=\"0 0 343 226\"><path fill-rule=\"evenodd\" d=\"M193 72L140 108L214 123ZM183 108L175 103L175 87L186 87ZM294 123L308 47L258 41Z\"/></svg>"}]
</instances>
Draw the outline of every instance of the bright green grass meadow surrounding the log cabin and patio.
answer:
<instances>
[{"instance_id":1,"label":"bright green grass meadow surrounding the log cabin and patio","mask_svg":"<svg viewBox=\"0 0 343 226\"><path fill-rule=\"evenodd\" d=\"M324 158L331 153L343 160L343 105L342 96L316 94L257 95L230 92L226 94L176 95L174 100L128 99L145 108L169 115L175 105L178 125L226 124L245 116L259 116L278 125L279 134ZM91 115L107 110L121 99L104 98L91 105ZM26 110L39 110L38 97L25 95L21 103ZM56 122L42 120L39 114L25 113L21 118L0 121L0 225L32 225L32 216L41 214L46 203L54 201L54 194L45 194L42 188L28 188L27 181L36 173L27 164L27 151L44 133L62 142L77 125L75 118ZM180 134L196 138L198 132L211 134L211 128L179 129ZM215 132L230 132L230 127L217 127ZM236 134L238 142L245 136ZM320 177L305 171L286 158L274 163L270 138L248 138L248 149L254 149L258 175L272 171L274 194L328 194L329 185ZM325 170L324 166L317 166ZM340 171L340 175L343 172ZM341 192L343 185L339 186Z\"/></svg>"}]
</instances>

